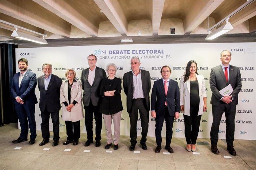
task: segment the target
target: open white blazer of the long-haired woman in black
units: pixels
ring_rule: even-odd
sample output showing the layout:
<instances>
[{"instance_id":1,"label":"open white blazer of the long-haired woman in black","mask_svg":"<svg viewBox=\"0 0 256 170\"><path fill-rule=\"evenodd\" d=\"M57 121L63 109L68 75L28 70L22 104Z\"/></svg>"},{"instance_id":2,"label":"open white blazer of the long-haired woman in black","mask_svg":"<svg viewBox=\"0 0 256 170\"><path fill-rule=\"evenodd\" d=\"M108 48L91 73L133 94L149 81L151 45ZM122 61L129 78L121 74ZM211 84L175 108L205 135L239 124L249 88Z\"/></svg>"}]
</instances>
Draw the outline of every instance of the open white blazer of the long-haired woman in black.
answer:
<instances>
[{"instance_id":1,"label":"open white blazer of the long-haired woman in black","mask_svg":"<svg viewBox=\"0 0 256 170\"><path fill-rule=\"evenodd\" d=\"M203 98L206 97L206 90L205 90L205 81L204 76L197 75L196 78L198 81L198 91L199 91L199 110L198 115L203 114L203 108L204 108L204 100ZM180 80L180 105L184 105L184 115L190 116L190 82L188 80L184 83L184 76L181 76Z\"/></svg>"}]
</instances>

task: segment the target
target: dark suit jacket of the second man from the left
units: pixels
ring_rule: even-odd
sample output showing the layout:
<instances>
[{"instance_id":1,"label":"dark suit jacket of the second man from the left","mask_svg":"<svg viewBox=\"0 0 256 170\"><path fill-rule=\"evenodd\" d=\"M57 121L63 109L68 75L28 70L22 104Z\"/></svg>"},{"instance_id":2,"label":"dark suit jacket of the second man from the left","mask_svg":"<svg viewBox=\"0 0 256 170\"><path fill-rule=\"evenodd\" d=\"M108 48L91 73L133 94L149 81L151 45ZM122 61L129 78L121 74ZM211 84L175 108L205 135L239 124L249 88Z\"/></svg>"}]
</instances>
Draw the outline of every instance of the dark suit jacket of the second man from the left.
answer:
<instances>
[{"instance_id":1,"label":"dark suit jacket of the second man from the left","mask_svg":"<svg viewBox=\"0 0 256 170\"><path fill-rule=\"evenodd\" d=\"M37 78L38 89L40 91L39 108L43 112L45 106L48 112L60 110L60 86L62 79L52 74L47 90L45 91L44 75Z\"/></svg>"}]
</instances>

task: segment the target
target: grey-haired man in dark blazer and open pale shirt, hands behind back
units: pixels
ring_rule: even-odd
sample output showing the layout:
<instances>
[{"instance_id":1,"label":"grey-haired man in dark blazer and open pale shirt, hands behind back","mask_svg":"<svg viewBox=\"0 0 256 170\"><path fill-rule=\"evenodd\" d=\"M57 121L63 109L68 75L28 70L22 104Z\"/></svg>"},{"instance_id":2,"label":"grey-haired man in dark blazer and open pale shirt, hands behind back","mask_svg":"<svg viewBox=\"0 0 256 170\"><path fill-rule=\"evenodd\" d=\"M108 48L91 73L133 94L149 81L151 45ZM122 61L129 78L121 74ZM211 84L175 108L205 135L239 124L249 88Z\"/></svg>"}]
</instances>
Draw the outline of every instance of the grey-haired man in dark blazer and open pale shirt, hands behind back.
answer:
<instances>
[{"instance_id":1,"label":"grey-haired man in dark blazer and open pale shirt, hands behind back","mask_svg":"<svg viewBox=\"0 0 256 170\"><path fill-rule=\"evenodd\" d=\"M127 96L127 112L129 113L131 129L131 146L129 150L134 150L137 143L137 122L138 110L141 118L141 146L147 150L147 134L150 110L149 92L151 89L150 73L140 69L140 59L137 57L131 58L132 71L124 74L124 92Z\"/></svg>"}]
</instances>

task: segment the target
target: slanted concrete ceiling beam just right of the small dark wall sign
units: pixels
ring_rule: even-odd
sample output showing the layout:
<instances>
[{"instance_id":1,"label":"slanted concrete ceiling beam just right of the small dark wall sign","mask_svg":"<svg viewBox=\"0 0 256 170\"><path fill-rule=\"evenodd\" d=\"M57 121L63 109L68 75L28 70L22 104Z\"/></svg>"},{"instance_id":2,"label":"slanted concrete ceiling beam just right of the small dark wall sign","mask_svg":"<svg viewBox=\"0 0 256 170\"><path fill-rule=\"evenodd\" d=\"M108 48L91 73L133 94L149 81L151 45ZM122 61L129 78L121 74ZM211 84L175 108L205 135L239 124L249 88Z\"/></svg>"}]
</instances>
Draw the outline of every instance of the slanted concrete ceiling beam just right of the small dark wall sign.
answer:
<instances>
[{"instance_id":1,"label":"slanted concrete ceiling beam just right of the small dark wall sign","mask_svg":"<svg viewBox=\"0 0 256 170\"><path fill-rule=\"evenodd\" d=\"M183 20L184 34L194 31L224 0L197 0Z\"/></svg>"}]
</instances>

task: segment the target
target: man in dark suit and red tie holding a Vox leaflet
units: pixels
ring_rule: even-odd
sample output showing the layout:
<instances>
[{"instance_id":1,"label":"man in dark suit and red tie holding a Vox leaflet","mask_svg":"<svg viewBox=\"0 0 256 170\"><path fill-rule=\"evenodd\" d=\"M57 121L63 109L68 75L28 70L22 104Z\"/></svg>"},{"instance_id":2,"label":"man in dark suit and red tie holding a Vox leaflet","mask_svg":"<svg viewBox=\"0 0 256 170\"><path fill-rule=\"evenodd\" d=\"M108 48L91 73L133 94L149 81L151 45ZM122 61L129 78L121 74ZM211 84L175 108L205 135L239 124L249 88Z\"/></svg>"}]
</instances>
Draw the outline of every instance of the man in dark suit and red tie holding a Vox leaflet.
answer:
<instances>
[{"instance_id":1,"label":"man in dark suit and red tie holding a Vox leaflet","mask_svg":"<svg viewBox=\"0 0 256 170\"><path fill-rule=\"evenodd\" d=\"M231 52L223 50L220 53L221 65L211 69L210 87L212 91L211 105L213 111L213 123L211 125L211 152L217 154L217 142L219 139L219 126L223 112L226 116L226 141L227 150L233 156L236 151L233 147L236 105L238 104L238 93L242 88L241 74L238 67L229 65L231 61ZM229 96L220 94L220 90L227 85L231 85L233 92Z\"/></svg>"}]
</instances>

